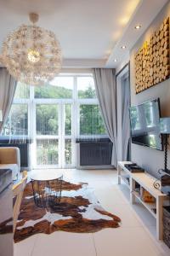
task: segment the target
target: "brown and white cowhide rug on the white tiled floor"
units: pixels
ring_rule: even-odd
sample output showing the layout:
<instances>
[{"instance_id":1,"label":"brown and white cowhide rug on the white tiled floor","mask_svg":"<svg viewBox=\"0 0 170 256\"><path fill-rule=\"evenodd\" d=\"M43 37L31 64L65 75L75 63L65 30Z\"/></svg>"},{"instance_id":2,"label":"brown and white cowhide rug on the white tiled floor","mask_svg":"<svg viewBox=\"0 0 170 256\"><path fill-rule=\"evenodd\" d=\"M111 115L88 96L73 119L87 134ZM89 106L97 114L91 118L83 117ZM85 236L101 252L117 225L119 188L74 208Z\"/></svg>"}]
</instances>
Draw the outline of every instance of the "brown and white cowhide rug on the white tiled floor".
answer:
<instances>
[{"instance_id":1,"label":"brown and white cowhide rug on the white tiled floor","mask_svg":"<svg viewBox=\"0 0 170 256\"><path fill-rule=\"evenodd\" d=\"M88 187L88 183L73 184L63 181L61 200L53 208L37 207L31 183L27 183L14 242L37 233L51 234L57 230L92 233L105 228L117 228L120 222L120 218L106 212L99 205L94 190Z\"/></svg>"}]
</instances>

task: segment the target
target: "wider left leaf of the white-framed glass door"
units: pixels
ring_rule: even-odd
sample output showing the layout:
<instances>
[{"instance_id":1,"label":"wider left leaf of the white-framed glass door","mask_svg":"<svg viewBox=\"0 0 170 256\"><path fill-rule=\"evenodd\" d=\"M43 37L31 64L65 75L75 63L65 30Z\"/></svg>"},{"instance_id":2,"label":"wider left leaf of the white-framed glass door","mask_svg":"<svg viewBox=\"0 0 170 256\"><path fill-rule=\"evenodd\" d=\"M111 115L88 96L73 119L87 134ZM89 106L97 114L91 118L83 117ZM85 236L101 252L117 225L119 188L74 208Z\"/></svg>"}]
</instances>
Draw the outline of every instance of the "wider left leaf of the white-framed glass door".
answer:
<instances>
[{"instance_id":1,"label":"wider left leaf of the white-framed glass door","mask_svg":"<svg viewBox=\"0 0 170 256\"><path fill-rule=\"evenodd\" d=\"M59 104L37 103L35 108L36 167L60 167Z\"/></svg>"}]
</instances>

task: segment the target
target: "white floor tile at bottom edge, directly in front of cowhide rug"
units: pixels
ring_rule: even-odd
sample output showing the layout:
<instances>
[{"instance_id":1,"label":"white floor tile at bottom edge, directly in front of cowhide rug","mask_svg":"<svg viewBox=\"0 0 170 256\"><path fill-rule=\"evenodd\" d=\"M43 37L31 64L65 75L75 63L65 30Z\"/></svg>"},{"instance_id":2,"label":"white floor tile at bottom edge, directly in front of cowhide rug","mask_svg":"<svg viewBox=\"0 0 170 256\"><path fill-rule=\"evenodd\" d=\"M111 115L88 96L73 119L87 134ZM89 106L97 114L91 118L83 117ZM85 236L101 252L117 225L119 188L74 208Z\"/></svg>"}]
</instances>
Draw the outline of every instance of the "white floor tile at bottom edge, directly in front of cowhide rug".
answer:
<instances>
[{"instance_id":1,"label":"white floor tile at bottom edge, directly in front of cowhide rug","mask_svg":"<svg viewBox=\"0 0 170 256\"><path fill-rule=\"evenodd\" d=\"M93 236L54 232L51 235L38 235L31 256L96 256Z\"/></svg>"}]
</instances>

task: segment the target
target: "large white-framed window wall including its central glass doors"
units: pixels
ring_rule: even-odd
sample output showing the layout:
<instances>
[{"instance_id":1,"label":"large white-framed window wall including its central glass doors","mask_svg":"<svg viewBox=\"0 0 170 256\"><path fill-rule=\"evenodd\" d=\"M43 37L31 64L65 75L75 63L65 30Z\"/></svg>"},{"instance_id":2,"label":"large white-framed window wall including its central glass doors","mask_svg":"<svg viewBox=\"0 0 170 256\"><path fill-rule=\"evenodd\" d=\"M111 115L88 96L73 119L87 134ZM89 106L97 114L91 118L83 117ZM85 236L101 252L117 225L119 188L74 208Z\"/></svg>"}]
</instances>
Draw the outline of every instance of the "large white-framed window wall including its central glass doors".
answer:
<instances>
[{"instance_id":1,"label":"large white-framed window wall including its central glass doors","mask_svg":"<svg viewBox=\"0 0 170 256\"><path fill-rule=\"evenodd\" d=\"M91 74L63 74L46 86L17 84L3 136L31 137L33 167L75 166L79 137L104 137Z\"/></svg>"}]
</instances>

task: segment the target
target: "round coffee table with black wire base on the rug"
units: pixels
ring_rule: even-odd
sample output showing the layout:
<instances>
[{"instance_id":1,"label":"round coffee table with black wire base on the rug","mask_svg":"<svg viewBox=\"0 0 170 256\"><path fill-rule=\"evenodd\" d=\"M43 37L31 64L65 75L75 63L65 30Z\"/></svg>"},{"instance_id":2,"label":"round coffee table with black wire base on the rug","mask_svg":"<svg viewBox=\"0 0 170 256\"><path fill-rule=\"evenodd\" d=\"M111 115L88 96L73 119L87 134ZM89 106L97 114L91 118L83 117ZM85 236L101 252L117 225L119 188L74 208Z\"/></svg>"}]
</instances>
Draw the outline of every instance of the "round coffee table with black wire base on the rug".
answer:
<instances>
[{"instance_id":1,"label":"round coffee table with black wire base on the rug","mask_svg":"<svg viewBox=\"0 0 170 256\"><path fill-rule=\"evenodd\" d=\"M57 170L32 172L31 184L37 207L54 207L61 199L63 174Z\"/></svg>"}]
</instances>

